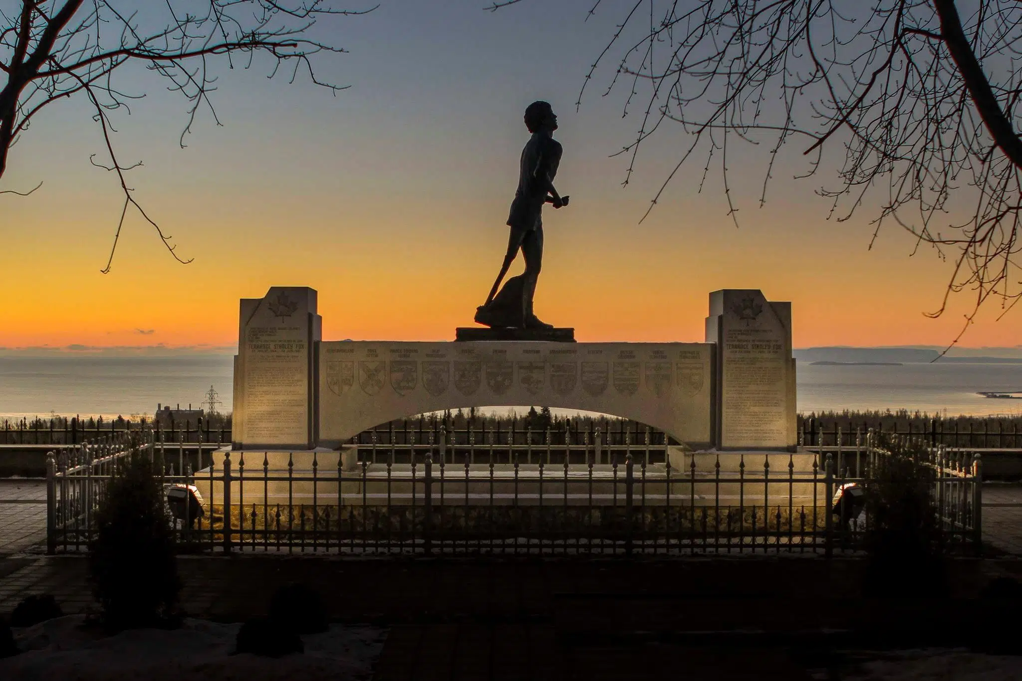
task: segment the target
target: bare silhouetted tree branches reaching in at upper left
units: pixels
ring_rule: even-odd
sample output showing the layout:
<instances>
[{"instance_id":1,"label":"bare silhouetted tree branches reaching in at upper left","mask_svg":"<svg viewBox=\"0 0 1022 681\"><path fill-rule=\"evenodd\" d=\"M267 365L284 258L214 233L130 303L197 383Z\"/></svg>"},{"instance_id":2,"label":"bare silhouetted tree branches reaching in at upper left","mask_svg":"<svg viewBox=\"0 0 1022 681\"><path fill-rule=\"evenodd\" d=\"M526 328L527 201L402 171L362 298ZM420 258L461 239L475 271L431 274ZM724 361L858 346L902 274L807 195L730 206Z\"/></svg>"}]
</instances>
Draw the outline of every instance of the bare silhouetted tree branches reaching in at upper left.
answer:
<instances>
[{"instance_id":1,"label":"bare silhouetted tree branches reaching in at upper left","mask_svg":"<svg viewBox=\"0 0 1022 681\"><path fill-rule=\"evenodd\" d=\"M284 74L293 82L300 70L316 85L342 89L316 78L315 55L343 51L323 42L322 37L332 32L317 22L372 9L337 9L324 0L20 0L13 7L7 3L0 7L0 179L11 147L29 132L41 110L67 98L84 98L105 143L106 161L96 161L95 154L90 159L117 175L124 194L110 259L102 272L110 270L125 215L132 206L156 230L175 258L190 262L175 252L171 237L142 209L128 185L126 173L141 162L121 161L110 112L127 108L128 101L143 95L120 89L117 75L121 67L144 64L155 77L166 79L169 90L186 99L184 146L184 136L200 106L208 107L220 123L210 99L215 63L247 68L264 54L272 63L270 78ZM39 185L0 194L31 194L36 189Z\"/></svg>"}]
</instances>

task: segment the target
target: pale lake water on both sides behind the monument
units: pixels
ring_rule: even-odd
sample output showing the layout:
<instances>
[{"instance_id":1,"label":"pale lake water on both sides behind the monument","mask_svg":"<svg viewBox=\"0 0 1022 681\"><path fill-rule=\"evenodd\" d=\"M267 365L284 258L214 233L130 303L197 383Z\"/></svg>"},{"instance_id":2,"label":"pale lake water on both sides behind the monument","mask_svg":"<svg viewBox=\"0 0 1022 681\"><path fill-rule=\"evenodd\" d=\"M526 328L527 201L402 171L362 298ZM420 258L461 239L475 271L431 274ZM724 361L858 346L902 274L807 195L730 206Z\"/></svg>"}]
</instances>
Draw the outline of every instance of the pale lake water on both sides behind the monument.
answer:
<instances>
[{"instance_id":1,"label":"pale lake water on both sides behind the monument","mask_svg":"<svg viewBox=\"0 0 1022 681\"><path fill-rule=\"evenodd\" d=\"M0 419L151 415L157 403L198 407L214 386L229 410L230 355L0 357ZM1022 390L1022 363L798 367L798 408L919 409L947 415L1022 415L1022 400L979 390ZM539 405L538 405L539 406Z\"/></svg>"}]
</instances>

